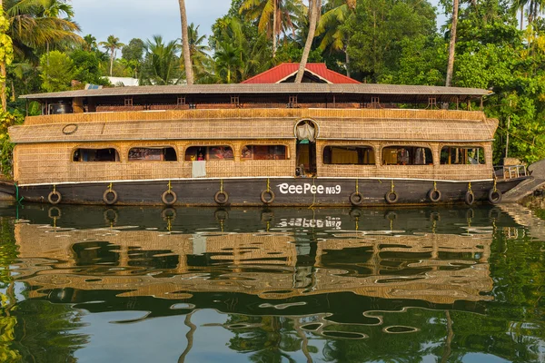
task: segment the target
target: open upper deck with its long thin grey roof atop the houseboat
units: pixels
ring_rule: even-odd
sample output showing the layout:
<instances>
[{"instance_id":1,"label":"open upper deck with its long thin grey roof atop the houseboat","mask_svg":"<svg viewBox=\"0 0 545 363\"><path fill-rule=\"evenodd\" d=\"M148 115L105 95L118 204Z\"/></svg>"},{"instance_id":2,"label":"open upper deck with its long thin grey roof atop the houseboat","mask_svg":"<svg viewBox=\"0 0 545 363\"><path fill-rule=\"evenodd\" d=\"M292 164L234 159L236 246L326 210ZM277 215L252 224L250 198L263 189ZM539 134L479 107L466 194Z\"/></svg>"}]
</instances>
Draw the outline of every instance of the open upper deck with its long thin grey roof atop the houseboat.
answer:
<instances>
[{"instance_id":1,"label":"open upper deck with its long thin grey roof atop the houseboat","mask_svg":"<svg viewBox=\"0 0 545 363\"><path fill-rule=\"evenodd\" d=\"M21 96L43 113L231 108L437 108L481 101L475 88L391 84L196 84L117 87ZM64 104L64 107L55 107ZM409 105L409 107L407 107ZM453 108L453 107L451 107ZM458 108L458 107L456 107Z\"/></svg>"}]
</instances>

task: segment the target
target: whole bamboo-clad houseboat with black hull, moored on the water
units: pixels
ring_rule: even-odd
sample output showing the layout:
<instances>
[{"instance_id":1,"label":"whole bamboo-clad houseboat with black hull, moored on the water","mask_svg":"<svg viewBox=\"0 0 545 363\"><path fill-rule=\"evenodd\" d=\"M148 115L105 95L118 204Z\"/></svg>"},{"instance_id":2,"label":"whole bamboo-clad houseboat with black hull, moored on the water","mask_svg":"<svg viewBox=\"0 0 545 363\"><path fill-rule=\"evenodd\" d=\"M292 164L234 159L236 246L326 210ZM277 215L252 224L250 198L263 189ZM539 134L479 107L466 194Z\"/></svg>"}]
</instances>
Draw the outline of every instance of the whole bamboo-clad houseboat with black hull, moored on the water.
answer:
<instances>
[{"instance_id":1,"label":"whole bamboo-clad houseboat with black hull, moored on the water","mask_svg":"<svg viewBox=\"0 0 545 363\"><path fill-rule=\"evenodd\" d=\"M43 114L9 129L15 192L52 204L497 203L526 176L494 172L489 94L278 83L25 95Z\"/></svg>"}]
</instances>

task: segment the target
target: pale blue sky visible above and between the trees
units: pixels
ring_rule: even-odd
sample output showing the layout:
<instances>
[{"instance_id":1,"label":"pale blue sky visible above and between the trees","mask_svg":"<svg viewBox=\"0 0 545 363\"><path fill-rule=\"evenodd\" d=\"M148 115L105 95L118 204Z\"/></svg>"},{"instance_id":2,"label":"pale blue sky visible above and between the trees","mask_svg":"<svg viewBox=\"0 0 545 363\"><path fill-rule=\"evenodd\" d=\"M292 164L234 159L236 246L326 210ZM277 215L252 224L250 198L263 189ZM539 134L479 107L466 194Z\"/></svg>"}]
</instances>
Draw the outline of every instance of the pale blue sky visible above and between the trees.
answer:
<instances>
[{"instance_id":1,"label":"pale blue sky visible above and between the trees","mask_svg":"<svg viewBox=\"0 0 545 363\"><path fill-rule=\"evenodd\" d=\"M438 0L431 0L437 5ZM128 44L133 38L163 35L165 41L181 37L180 7L176 0L72 0L74 20L82 36L93 34L98 42L108 35ZM199 26L199 34L211 34L215 20L227 14L231 0L185 0L187 21ZM439 23L444 22L444 17Z\"/></svg>"}]
</instances>

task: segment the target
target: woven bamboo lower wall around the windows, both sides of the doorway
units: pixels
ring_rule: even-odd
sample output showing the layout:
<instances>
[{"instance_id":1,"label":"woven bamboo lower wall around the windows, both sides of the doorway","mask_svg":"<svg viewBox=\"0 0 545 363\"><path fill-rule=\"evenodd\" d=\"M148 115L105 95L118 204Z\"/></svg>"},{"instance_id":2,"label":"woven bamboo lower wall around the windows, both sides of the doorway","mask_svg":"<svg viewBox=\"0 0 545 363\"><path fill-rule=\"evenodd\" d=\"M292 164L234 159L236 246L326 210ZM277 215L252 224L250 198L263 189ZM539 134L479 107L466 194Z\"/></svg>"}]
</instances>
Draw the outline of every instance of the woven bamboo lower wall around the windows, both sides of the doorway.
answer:
<instances>
[{"instance_id":1,"label":"woven bamboo lower wall around the windows, both sides of the doorway","mask_svg":"<svg viewBox=\"0 0 545 363\"><path fill-rule=\"evenodd\" d=\"M283 144L288 148L288 160L241 160L241 150L250 144ZM482 165L440 165L440 143L407 143L430 147L434 154L434 165L381 165L381 152L376 152L375 165L325 165L322 163L325 145L365 144L381 151L378 142L318 142L317 162L319 177L353 178L408 178L433 179L437 181L487 180L492 177L491 143L471 143L485 150L486 164ZM390 145L390 142L384 143ZM400 144L400 143L398 143ZM190 146L229 145L233 148L233 161L206 162L207 177L267 177L294 175L295 141L201 141L201 142L91 142L91 143L53 143L19 144L14 153L14 176L20 184L58 183L58 182L111 182L137 181L154 179L178 179L192 177L192 162L184 161L185 149ZM449 145L462 145L449 143ZM178 155L178 162L128 162L127 154L133 147L172 146ZM72 155L77 148L114 148L119 152L121 162L72 162Z\"/></svg>"}]
</instances>

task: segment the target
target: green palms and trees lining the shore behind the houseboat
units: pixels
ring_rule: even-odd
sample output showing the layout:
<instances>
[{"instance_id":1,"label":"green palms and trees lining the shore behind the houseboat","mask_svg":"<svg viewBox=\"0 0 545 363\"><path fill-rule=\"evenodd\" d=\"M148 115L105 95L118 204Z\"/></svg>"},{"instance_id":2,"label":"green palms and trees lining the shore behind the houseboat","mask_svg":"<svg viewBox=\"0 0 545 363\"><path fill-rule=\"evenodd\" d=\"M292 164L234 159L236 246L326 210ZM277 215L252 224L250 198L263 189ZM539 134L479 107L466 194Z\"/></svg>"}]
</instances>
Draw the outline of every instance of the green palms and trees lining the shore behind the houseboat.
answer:
<instances>
[{"instance_id":1,"label":"green palms and trees lining the shore behind the houseboat","mask_svg":"<svg viewBox=\"0 0 545 363\"><path fill-rule=\"evenodd\" d=\"M536 0L444 0L439 8L416 0L312 0L311 9L302 0L233 0L209 37L199 34L179 0L183 44L160 34L126 44L114 34L103 41L82 36L68 0L0 5L5 175L13 149L7 127L40 113L21 94L120 85L108 75L143 85L193 83L192 74L194 83L240 83L276 64L307 59L364 83L490 89L484 111L500 120L494 163L505 156L528 163L545 158L545 20ZM440 14L448 20L437 29Z\"/></svg>"}]
</instances>

